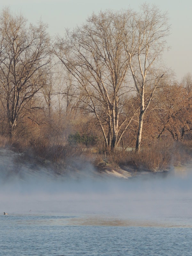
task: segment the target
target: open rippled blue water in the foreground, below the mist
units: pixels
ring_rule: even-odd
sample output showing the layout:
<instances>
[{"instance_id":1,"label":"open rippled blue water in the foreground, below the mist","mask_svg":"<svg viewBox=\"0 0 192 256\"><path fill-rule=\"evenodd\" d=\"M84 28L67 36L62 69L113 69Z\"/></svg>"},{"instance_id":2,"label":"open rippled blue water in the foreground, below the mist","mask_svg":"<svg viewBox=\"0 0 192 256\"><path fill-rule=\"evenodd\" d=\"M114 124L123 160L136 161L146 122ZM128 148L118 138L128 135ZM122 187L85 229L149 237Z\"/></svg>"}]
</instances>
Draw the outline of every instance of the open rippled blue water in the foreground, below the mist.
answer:
<instances>
[{"instance_id":1,"label":"open rippled blue water in the foreground, below the mist","mask_svg":"<svg viewBox=\"0 0 192 256\"><path fill-rule=\"evenodd\" d=\"M190 226L148 225L93 216L3 215L0 255L191 255Z\"/></svg>"}]
</instances>

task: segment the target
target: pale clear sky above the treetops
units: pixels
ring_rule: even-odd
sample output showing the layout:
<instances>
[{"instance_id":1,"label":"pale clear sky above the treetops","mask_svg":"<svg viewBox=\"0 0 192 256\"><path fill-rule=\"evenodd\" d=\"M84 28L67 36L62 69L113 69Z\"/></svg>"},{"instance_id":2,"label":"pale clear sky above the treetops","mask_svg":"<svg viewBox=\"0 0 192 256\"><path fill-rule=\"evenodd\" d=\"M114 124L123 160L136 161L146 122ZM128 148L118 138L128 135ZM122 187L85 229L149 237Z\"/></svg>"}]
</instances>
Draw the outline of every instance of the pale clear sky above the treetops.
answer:
<instances>
[{"instance_id":1,"label":"pale clear sky above the treetops","mask_svg":"<svg viewBox=\"0 0 192 256\"><path fill-rule=\"evenodd\" d=\"M51 36L64 36L65 28L73 29L81 25L92 12L106 9L139 10L145 1L135 0L0 0L0 9L9 6L12 12L22 12L29 22L36 23L40 18L48 23ZM148 0L157 5L162 12L168 12L171 35L167 38L164 62L172 68L179 81L188 72L192 73L192 1L191 0Z\"/></svg>"}]
</instances>

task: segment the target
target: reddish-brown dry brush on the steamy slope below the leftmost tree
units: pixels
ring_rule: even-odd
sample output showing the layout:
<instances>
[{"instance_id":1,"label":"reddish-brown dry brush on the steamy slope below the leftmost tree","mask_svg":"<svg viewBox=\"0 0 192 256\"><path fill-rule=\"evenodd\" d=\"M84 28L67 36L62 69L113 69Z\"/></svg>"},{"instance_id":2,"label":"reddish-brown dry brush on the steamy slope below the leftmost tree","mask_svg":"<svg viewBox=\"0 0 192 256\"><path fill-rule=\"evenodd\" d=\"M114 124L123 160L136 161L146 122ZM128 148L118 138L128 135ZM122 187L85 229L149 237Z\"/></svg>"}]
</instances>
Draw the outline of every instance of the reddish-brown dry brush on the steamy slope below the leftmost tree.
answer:
<instances>
[{"instance_id":1,"label":"reddish-brown dry brush on the steamy slope below the leftmost tree","mask_svg":"<svg viewBox=\"0 0 192 256\"><path fill-rule=\"evenodd\" d=\"M22 164L40 164L50 167L57 173L65 172L74 164L75 159L83 157L81 146L72 147L62 142L49 141L42 138L31 138L29 141L0 137L0 147L21 153L15 156L16 169Z\"/></svg>"}]
</instances>

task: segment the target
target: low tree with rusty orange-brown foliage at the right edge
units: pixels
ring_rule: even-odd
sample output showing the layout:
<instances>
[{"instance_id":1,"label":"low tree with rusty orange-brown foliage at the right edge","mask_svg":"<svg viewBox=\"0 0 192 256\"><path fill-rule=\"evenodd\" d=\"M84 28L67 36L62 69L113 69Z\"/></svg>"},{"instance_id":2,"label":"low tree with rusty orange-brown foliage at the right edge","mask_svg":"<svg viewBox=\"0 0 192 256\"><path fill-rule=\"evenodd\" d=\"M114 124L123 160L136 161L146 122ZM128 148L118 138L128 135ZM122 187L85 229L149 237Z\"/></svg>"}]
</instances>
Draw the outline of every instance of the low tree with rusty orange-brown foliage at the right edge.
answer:
<instances>
[{"instance_id":1,"label":"low tree with rusty orange-brown foliage at the right edge","mask_svg":"<svg viewBox=\"0 0 192 256\"><path fill-rule=\"evenodd\" d=\"M164 86L159 99L156 118L159 119L158 139L168 131L173 140L191 139L192 131L192 93L182 84L167 84Z\"/></svg>"}]
</instances>

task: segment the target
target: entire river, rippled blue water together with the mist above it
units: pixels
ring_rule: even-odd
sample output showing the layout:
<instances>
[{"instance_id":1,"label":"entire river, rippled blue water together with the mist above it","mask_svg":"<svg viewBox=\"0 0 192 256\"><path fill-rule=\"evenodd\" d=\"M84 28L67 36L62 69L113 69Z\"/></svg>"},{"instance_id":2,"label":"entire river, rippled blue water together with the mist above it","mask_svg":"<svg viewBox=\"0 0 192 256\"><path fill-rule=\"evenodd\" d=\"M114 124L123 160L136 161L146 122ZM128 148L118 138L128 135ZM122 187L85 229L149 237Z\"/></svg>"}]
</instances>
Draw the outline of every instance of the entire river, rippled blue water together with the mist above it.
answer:
<instances>
[{"instance_id":1,"label":"entire river, rippled blue water together with the mist above it","mask_svg":"<svg viewBox=\"0 0 192 256\"><path fill-rule=\"evenodd\" d=\"M0 151L0 255L191 255L190 164L120 179L18 159Z\"/></svg>"}]
</instances>

